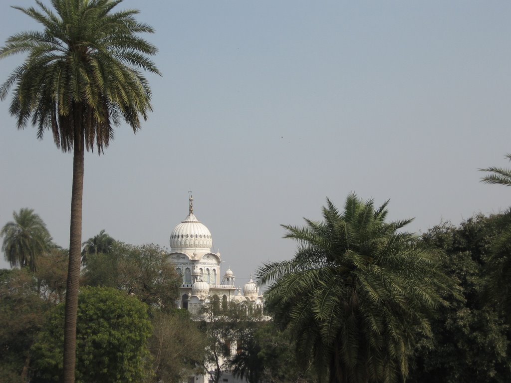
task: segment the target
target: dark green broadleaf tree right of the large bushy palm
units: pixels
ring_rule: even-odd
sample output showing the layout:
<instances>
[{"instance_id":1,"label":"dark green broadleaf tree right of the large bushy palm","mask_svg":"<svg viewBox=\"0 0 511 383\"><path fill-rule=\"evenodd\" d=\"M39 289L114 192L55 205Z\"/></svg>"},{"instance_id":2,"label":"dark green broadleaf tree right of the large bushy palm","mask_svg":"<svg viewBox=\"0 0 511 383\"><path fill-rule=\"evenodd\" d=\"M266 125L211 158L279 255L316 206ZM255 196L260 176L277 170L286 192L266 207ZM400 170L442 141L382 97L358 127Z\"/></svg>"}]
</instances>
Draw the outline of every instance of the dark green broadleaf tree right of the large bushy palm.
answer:
<instances>
[{"instance_id":1,"label":"dark green broadleaf tree right of the large bushy palm","mask_svg":"<svg viewBox=\"0 0 511 383\"><path fill-rule=\"evenodd\" d=\"M443 267L459 284L461 296L437 313L433 338L417 345L411 383L511 381L506 315L484 294L493 278L487 273L493 243L505 221L505 214L480 214L458 227L437 225L421 237L424 245L443 249Z\"/></svg>"}]
</instances>

